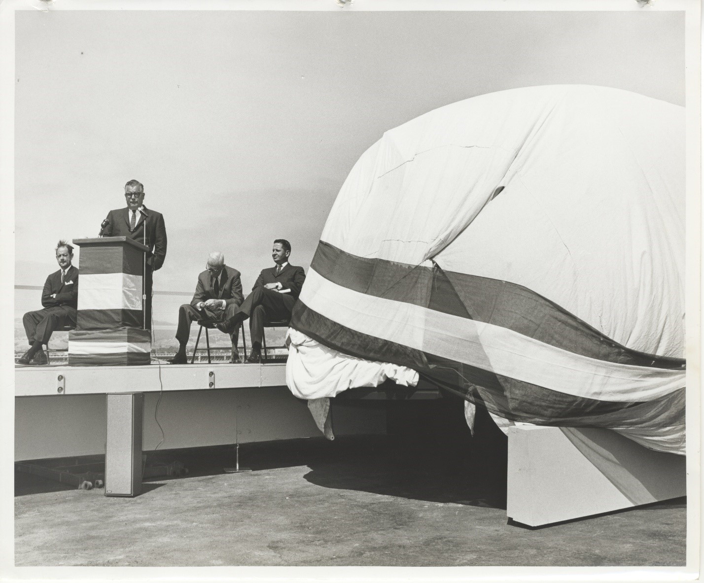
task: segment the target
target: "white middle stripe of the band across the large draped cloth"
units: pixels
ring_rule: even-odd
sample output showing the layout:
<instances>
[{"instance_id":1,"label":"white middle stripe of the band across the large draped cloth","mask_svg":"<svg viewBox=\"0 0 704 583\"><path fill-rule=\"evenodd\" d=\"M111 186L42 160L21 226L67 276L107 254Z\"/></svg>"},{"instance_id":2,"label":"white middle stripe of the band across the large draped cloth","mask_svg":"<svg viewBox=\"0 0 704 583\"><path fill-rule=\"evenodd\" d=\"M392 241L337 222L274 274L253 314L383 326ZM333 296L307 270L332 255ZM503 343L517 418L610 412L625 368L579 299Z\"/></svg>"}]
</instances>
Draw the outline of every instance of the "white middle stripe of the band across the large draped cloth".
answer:
<instances>
[{"instance_id":1,"label":"white middle stripe of the band across the large draped cloth","mask_svg":"<svg viewBox=\"0 0 704 583\"><path fill-rule=\"evenodd\" d=\"M361 294L330 282L313 267L300 299L351 330L573 396L648 401L684 387L681 369L601 361L508 328Z\"/></svg>"}]
</instances>

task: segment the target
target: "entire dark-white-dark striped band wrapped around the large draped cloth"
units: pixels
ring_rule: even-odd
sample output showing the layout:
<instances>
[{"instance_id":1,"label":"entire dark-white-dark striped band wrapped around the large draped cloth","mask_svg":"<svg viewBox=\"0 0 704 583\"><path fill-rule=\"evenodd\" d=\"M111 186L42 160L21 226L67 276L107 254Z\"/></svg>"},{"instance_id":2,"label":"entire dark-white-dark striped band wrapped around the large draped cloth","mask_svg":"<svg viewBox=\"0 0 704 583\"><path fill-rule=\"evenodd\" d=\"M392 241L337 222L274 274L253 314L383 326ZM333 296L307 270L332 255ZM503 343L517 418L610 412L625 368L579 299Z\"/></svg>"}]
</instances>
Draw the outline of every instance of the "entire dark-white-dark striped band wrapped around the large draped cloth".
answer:
<instances>
[{"instance_id":1,"label":"entire dark-white-dark striped band wrapped around the large draped cloth","mask_svg":"<svg viewBox=\"0 0 704 583\"><path fill-rule=\"evenodd\" d=\"M296 330L417 370L503 418L608 427L684 453L684 360L628 349L517 284L320 242L300 300Z\"/></svg>"}]
</instances>

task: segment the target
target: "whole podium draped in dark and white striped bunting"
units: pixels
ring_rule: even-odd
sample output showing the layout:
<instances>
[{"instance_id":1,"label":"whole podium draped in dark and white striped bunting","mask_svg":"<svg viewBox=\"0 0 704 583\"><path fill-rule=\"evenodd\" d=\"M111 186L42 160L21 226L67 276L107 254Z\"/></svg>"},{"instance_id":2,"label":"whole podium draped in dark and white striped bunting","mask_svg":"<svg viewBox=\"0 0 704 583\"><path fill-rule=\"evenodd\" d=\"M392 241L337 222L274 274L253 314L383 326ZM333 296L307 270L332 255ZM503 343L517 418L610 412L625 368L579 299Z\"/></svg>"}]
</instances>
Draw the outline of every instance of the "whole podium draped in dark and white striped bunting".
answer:
<instances>
[{"instance_id":1,"label":"whole podium draped in dark and white striped bunting","mask_svg":"<svg viewBox=\"0 0 704 583\"><path fill-rule=\"evenodd\" d=\"M74 239L80 246L76 329L68 365L142 365L151 361L144 325L144 265L149 248L129 237Z\"/></svg>"}]
</instances>

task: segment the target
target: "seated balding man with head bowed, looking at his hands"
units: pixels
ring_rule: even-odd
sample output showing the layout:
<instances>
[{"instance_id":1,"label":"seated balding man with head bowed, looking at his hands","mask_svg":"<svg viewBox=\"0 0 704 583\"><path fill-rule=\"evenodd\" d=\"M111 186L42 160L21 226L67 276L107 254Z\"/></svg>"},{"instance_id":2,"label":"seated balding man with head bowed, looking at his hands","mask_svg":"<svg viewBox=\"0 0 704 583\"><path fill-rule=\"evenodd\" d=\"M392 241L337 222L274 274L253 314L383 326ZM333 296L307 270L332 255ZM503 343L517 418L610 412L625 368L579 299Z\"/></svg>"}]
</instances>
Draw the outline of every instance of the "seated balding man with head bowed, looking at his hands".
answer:
<instances>
[{"instance_id":1,"label":"seated balding man with head bowed, looking at his hands","mask_svg":"<svg viewBox=\"0 0 704 583\"><path fill-rule=\"evenodd\" d=\"M178 311L178 329L176 339L179 349L169 361L171 364L185 364L186 344L191 334L191 322L210 320L223 322L237 313L237 306L242 303L242 283L239 271L225 265L225 257L220 251L213 251L208 256L206 270L198 276L196 293L193 294L191 303L184 303ZM230 332L232 339L232 357L230 362L239 361L237 352L237 337L239 327Z\"/></svg>"}]
</instances>

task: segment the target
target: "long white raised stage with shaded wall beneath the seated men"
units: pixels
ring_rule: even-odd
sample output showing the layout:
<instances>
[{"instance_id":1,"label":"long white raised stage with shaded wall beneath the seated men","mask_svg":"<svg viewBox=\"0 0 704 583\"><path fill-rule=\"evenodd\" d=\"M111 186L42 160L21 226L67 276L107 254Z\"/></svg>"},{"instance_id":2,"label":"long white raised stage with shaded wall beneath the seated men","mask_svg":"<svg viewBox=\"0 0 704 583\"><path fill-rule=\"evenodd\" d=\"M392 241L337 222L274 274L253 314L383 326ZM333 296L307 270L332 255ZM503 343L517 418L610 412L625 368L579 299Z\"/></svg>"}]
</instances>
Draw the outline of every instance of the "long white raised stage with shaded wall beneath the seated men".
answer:
<instances>
[{"instance_id":1,"label":"long white raised stage with shaded wall beneath the seated men","mask_svg":"<svg viewBox=\"0 0 704 583\"><path fill-rule=\"evenodd\" d=\"M15 460L105 453L106 394L134 391L145 394L144 451L320 437L285 371L284 363L17 368ZM386 432L382 407L333 406L337 435Z\"/></svg>"}]
</instances>

